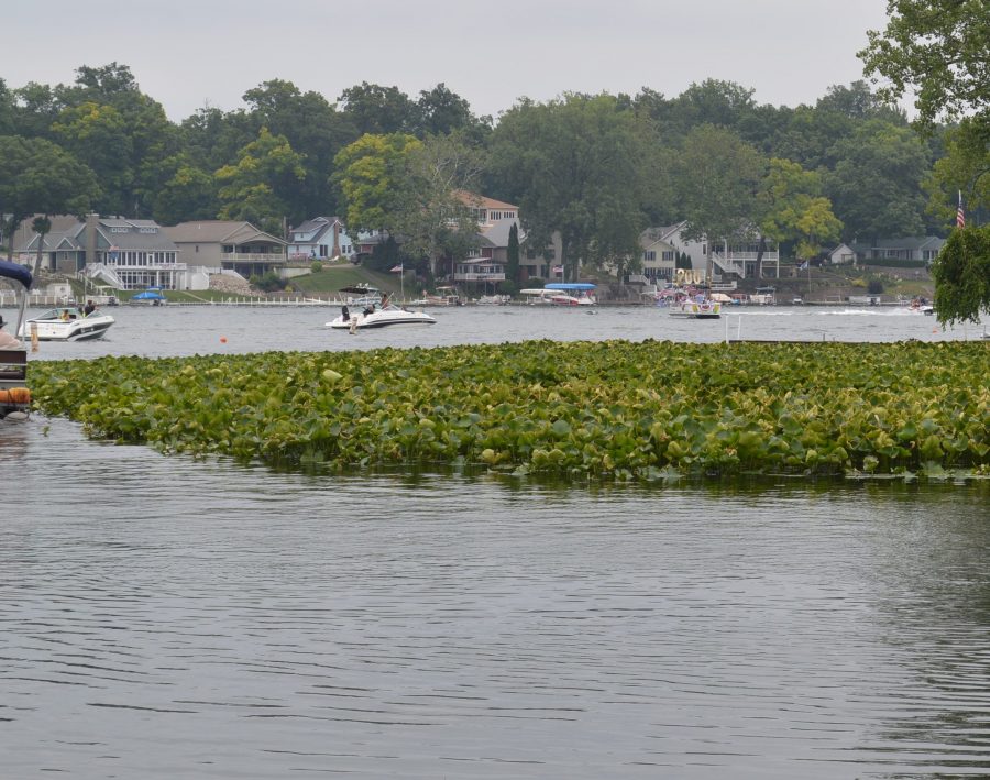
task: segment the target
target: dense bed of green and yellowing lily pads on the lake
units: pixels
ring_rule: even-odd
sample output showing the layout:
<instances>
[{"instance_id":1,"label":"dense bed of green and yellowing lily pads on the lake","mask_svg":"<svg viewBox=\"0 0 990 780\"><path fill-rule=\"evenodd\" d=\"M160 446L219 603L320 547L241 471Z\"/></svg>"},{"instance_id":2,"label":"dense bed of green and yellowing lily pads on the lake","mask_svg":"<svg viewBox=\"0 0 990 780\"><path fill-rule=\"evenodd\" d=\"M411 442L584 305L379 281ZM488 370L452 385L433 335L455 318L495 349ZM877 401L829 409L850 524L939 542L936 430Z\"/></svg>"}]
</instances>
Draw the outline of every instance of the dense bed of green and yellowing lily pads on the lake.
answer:
<instances>
[{"instance_id":1,"label":"dense bed of green and yellowing lily pads on the lake","mask_svg":"<svg viewBox=\"0 0 990 780\"><path fill-rule=\"evenodd\" d=\"M95 438L273 468L990 475L990 344L529 341L35 361Z\"/></svg>"}]
</instances>

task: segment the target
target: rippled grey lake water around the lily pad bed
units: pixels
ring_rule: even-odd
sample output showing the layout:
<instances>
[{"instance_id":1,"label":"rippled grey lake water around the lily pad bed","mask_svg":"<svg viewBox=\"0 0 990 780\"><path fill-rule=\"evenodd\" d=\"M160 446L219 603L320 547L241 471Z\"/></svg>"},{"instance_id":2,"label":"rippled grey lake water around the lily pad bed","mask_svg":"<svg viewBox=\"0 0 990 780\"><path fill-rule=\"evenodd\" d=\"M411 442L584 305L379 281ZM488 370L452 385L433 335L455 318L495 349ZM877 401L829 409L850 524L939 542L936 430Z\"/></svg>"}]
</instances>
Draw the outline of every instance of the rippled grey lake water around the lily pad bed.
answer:
<instances>
[{"instance_id":1,"label":"rippled grey lake water around the lily pad bed","mask_svg":"<svg viewBox=\"0 0 990 780\"><path fill-rule=\"evenodd\" d=\"M32 360L726 331L654 309L358 336L327 307L111 311L103 341ZM743 338L981 330L741 317ZM0 424L0 465L4 780L990 776L986 482L279 474L40 417Z\"/></svg>"}]
</instances>

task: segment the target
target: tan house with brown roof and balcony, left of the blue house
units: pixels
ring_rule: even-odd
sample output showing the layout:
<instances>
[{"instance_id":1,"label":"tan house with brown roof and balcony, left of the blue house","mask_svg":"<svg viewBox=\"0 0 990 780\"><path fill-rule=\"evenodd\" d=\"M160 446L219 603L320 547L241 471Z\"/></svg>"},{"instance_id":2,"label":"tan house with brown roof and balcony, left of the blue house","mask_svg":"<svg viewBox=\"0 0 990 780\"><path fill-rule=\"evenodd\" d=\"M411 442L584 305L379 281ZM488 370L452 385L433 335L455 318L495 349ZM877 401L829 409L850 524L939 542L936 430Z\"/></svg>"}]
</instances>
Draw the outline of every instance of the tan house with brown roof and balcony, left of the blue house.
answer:
<instances>
[{"instance_id":1,"label":"tan house with brown roof and balcony, left of the blue house","mask_svg":"<svg viewBox=\"0 0 990 780\"><path fill-rule=\"evenodd\" d=\"M251 222L199 220L163 230L183 261L206 273L235 273L245 279L268 272L285 273L288 242Z\"/></svg>"}]
</instances>

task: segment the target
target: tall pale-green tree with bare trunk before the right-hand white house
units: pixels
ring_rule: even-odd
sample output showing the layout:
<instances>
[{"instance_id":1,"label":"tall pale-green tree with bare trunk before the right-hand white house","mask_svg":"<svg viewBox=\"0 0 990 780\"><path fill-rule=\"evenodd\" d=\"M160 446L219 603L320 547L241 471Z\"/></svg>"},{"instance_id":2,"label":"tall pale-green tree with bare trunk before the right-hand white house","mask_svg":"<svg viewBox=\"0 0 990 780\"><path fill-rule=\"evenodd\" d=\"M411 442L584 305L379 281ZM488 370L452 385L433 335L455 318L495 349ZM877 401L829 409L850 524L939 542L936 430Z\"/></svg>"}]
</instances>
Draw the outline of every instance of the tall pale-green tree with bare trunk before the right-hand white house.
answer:
<instances>
[{"instance_id":1,"label":"tall pale-green tree with bare trunk before the right-hand white house","mask_svg":"<svg viewBox=\"0 0 990 780\"><path fill-rule=\"evenodd\" d=\"M765 171L760 153L730 130L702 125L684 139L673 166L686 219L682 234L705 242L708 281L714 244L755 233Z\"/></svg>"}]
</instances>

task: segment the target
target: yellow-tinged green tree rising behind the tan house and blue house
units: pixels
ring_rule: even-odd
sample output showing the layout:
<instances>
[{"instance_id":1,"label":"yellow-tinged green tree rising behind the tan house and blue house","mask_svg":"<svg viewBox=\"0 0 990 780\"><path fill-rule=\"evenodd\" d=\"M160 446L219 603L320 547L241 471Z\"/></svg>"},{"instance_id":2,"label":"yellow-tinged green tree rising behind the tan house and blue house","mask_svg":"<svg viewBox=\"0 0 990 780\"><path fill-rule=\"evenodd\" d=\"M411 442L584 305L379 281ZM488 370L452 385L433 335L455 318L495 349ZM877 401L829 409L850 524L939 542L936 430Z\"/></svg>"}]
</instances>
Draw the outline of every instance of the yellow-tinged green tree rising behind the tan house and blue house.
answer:
<instances>
[{"instance_id":1,"label":"yellow-tinged green tree rising behind the tan house and blue house","mask_svg":"<svg viewBox=\"0 0 990 780\"><path fill-rule=\"evenodd\" d=\"M293 151L283 135L262 128L256 141L244 146L237 165L226 165L215 174L220 185L220 218L251 221L276 235L289 210L293 187L306 178L302 156Z\"/></svg>"}]
</instances>

